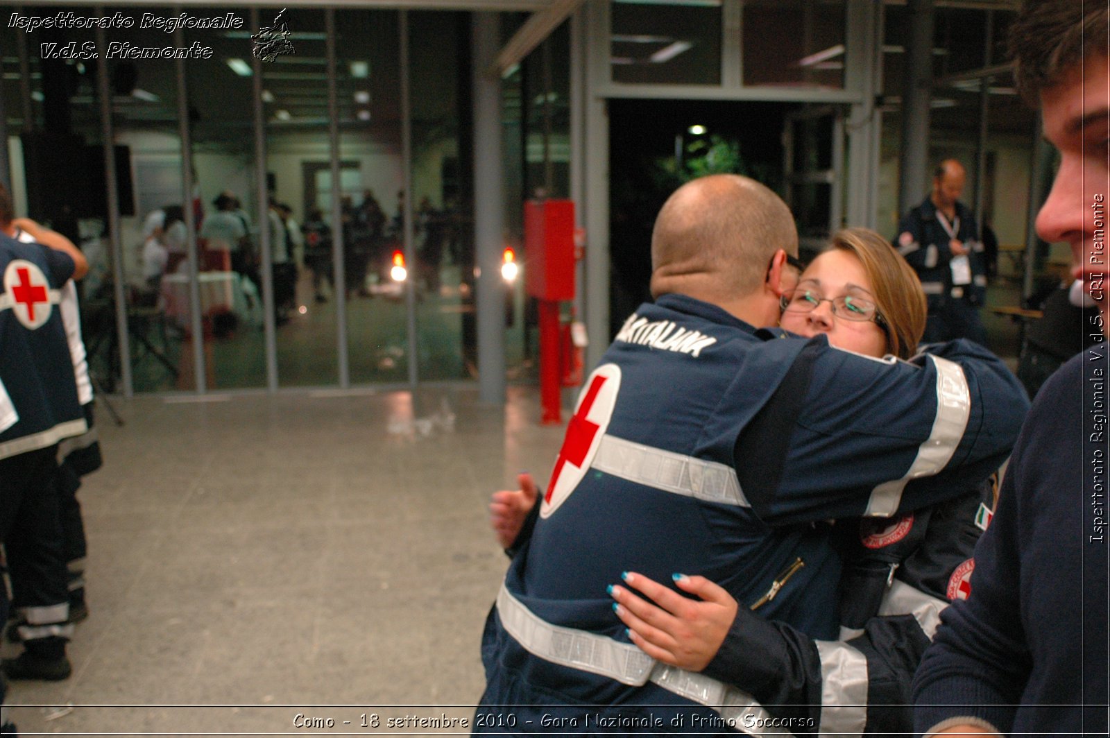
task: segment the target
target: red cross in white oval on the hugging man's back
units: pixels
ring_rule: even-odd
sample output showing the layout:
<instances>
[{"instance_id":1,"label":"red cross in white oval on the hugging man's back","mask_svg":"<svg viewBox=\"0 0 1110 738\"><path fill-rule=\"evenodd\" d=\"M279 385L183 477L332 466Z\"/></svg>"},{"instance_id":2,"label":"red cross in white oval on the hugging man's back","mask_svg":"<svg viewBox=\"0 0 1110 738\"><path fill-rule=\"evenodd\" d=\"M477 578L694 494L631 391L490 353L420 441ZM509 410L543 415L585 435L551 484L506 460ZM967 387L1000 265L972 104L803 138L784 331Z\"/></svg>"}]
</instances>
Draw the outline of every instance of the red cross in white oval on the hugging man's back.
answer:
<instances>
[{"instance_id":1,"label":"red cross in white oval on the hugging man's back","mask_svg":"<svg viewBox=\"0 0 1110 738\"><path fill-rule=\"evenodd\" d=\"M552 478L539 510L544 517L566 499L585 475L605 428L609 425L619 386L620 368L616 364L598 366L587 381L567 425L555 468L552 469Z\"/></svg>"}]
</instances>

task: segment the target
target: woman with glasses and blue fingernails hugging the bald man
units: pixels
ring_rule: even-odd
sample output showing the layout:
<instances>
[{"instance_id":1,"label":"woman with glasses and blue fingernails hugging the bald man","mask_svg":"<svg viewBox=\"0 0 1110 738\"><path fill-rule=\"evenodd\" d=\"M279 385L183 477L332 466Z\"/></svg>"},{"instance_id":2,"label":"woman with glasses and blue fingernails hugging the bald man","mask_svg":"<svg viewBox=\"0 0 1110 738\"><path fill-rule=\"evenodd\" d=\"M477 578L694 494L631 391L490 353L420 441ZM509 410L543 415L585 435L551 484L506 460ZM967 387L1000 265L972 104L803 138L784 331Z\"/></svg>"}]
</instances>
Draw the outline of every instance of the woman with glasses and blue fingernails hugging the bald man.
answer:
<instances>
[{"instance_id":1,"label":"woman with glasses and blue fingernails hugging the bald man","mask_svg":"<svg viewBox=\"0 0 1110 738\"><path fill-rule=\"evenodd\" d=\"M925 332L925 293L914 270L878 233L840 231L808 267L801 266L796 266L801 272L796 285L781 297L784 331L824 334L833 346L879 361L916 353ZM495 493L491 505L494 529L509 553L526 539L527 529L518 534L537 498L531 477L521 475L519 481L523 489ZM977 516L985 516L980 508L987 516L993 508L989 482L900 518L838 520L830 544L844 559L844 641L815 641L758 617L760 607L805 566L800 559L763 597L743 607L704 577L674 577L694 599L628 573L609 588L615 617L653 658L735 685L783 720L778 726L734 727L909 731L908 708L898 706L909 701L910 679L937 614L969 589L971 550L985 526L976 526Z\"/></svg>"}]
</instances>

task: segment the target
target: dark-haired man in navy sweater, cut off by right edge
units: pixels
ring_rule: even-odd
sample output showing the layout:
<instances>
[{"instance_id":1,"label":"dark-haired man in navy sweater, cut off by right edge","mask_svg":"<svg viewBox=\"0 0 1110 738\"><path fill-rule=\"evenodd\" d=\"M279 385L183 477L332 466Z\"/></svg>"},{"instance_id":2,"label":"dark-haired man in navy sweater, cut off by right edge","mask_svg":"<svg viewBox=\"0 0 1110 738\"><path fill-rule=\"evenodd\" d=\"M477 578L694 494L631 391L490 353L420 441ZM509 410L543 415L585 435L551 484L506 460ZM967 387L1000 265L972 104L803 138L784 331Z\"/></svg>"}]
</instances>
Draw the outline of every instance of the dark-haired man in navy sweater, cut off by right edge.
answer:
<instances>
[{"instance_id":1,"label":"dark-haired man in navy sweater, cut off by right edge","mask_svg":"<svg viewBox=\"0 0 1110 738\"><path fill-rule=\"evenodd\" d=\"M1037 233L1071 247L1103 333L1110 199L1110 11L1026 2L1017 80L1060 152ZM976 548L971 596L945 610L914 684L921 735L1107 735L1107 344L1041 387Z\"/></svg>"}]
</instances>

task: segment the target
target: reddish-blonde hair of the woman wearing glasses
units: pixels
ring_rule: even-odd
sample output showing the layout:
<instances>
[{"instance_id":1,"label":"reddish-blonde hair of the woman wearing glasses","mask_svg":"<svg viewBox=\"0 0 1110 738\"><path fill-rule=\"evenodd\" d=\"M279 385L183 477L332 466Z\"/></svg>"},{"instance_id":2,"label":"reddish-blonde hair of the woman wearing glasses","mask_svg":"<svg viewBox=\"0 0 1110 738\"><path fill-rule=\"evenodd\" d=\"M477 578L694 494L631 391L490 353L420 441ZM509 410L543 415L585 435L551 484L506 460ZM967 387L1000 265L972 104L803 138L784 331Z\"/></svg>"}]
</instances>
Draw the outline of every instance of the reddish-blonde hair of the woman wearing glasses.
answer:
<instances>
[{"instance_id":1,"label":"reddish-blonde hair of the woman wearing glasses","mask_svg":"<svg viewBox=\"0 0 1110 738\"><path fill-rule=\"evenodd\" d=\"M869 229L837 231L829 249L846 251L862 264L887 324L887 352L899 358L912 356L925 334L928 314L925 292L914 269L886 239Z\"/></svg>"}]
</instances>

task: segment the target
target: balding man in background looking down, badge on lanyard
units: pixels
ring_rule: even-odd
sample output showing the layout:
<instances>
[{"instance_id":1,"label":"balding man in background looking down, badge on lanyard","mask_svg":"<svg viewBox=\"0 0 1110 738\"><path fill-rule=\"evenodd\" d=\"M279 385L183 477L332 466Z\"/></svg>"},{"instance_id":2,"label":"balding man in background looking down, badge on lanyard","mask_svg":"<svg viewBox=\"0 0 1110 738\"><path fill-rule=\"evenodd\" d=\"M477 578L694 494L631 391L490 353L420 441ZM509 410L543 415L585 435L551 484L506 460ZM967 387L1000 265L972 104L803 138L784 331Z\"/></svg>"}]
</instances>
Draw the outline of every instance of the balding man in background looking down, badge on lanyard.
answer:
<instances>
[{"instance_id":1,"label":"balding man in background looking down, badge on lanyard","mask_svg":"<svg viewBox=\"0 0 1110 738\"><path fill-rule=\"evenodd\" d=\"M979 307L987 266L975 215L961 203L967 172L946 159L932 174L932 192L898 224L895 247L921 279L929 301L926 343L970 338L987 345Z\"/></svg>"}]
</instances>

